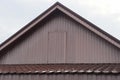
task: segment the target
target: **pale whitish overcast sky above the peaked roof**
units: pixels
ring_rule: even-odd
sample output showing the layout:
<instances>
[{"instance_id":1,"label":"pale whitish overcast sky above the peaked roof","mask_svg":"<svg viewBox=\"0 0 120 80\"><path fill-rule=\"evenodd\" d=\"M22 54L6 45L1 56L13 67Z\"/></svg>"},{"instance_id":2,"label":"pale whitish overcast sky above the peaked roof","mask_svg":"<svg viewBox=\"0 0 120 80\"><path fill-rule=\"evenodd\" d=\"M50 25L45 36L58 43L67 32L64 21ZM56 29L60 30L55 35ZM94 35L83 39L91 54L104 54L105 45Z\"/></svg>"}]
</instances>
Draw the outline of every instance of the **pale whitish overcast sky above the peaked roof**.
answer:
<instances>
[{"instance_id":1,"label":"pale whitish overcast sky above the peaked roof","mask_svg":"<svg viewBox=\"0 0 120 80\"><path fill-rule=\"evenodd\" d=\"M56 1L120 40L120 0L0 0L0 43Z\"/></svg>"}]
</instances>

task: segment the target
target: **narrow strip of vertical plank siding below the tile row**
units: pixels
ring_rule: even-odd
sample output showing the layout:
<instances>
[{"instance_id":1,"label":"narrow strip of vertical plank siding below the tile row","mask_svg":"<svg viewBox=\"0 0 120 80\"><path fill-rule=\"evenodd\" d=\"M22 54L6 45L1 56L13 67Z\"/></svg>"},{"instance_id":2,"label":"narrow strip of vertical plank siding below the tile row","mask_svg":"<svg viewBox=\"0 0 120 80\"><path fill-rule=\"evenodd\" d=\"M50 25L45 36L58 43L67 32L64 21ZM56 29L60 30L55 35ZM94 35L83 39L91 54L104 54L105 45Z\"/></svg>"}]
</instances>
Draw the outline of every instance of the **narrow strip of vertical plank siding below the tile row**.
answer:
<instances>
[{"instance_id":1,"label":"narrow strip of vertical plank siding below the tile row","mask_svg":"<svg viewBox=\"0 0 120 80\"><path fill-rule=\"evenodd\" d=\"M7 74L0 80L120 80L120 75L102 74Z\"/></svg>"}]
</instances>

